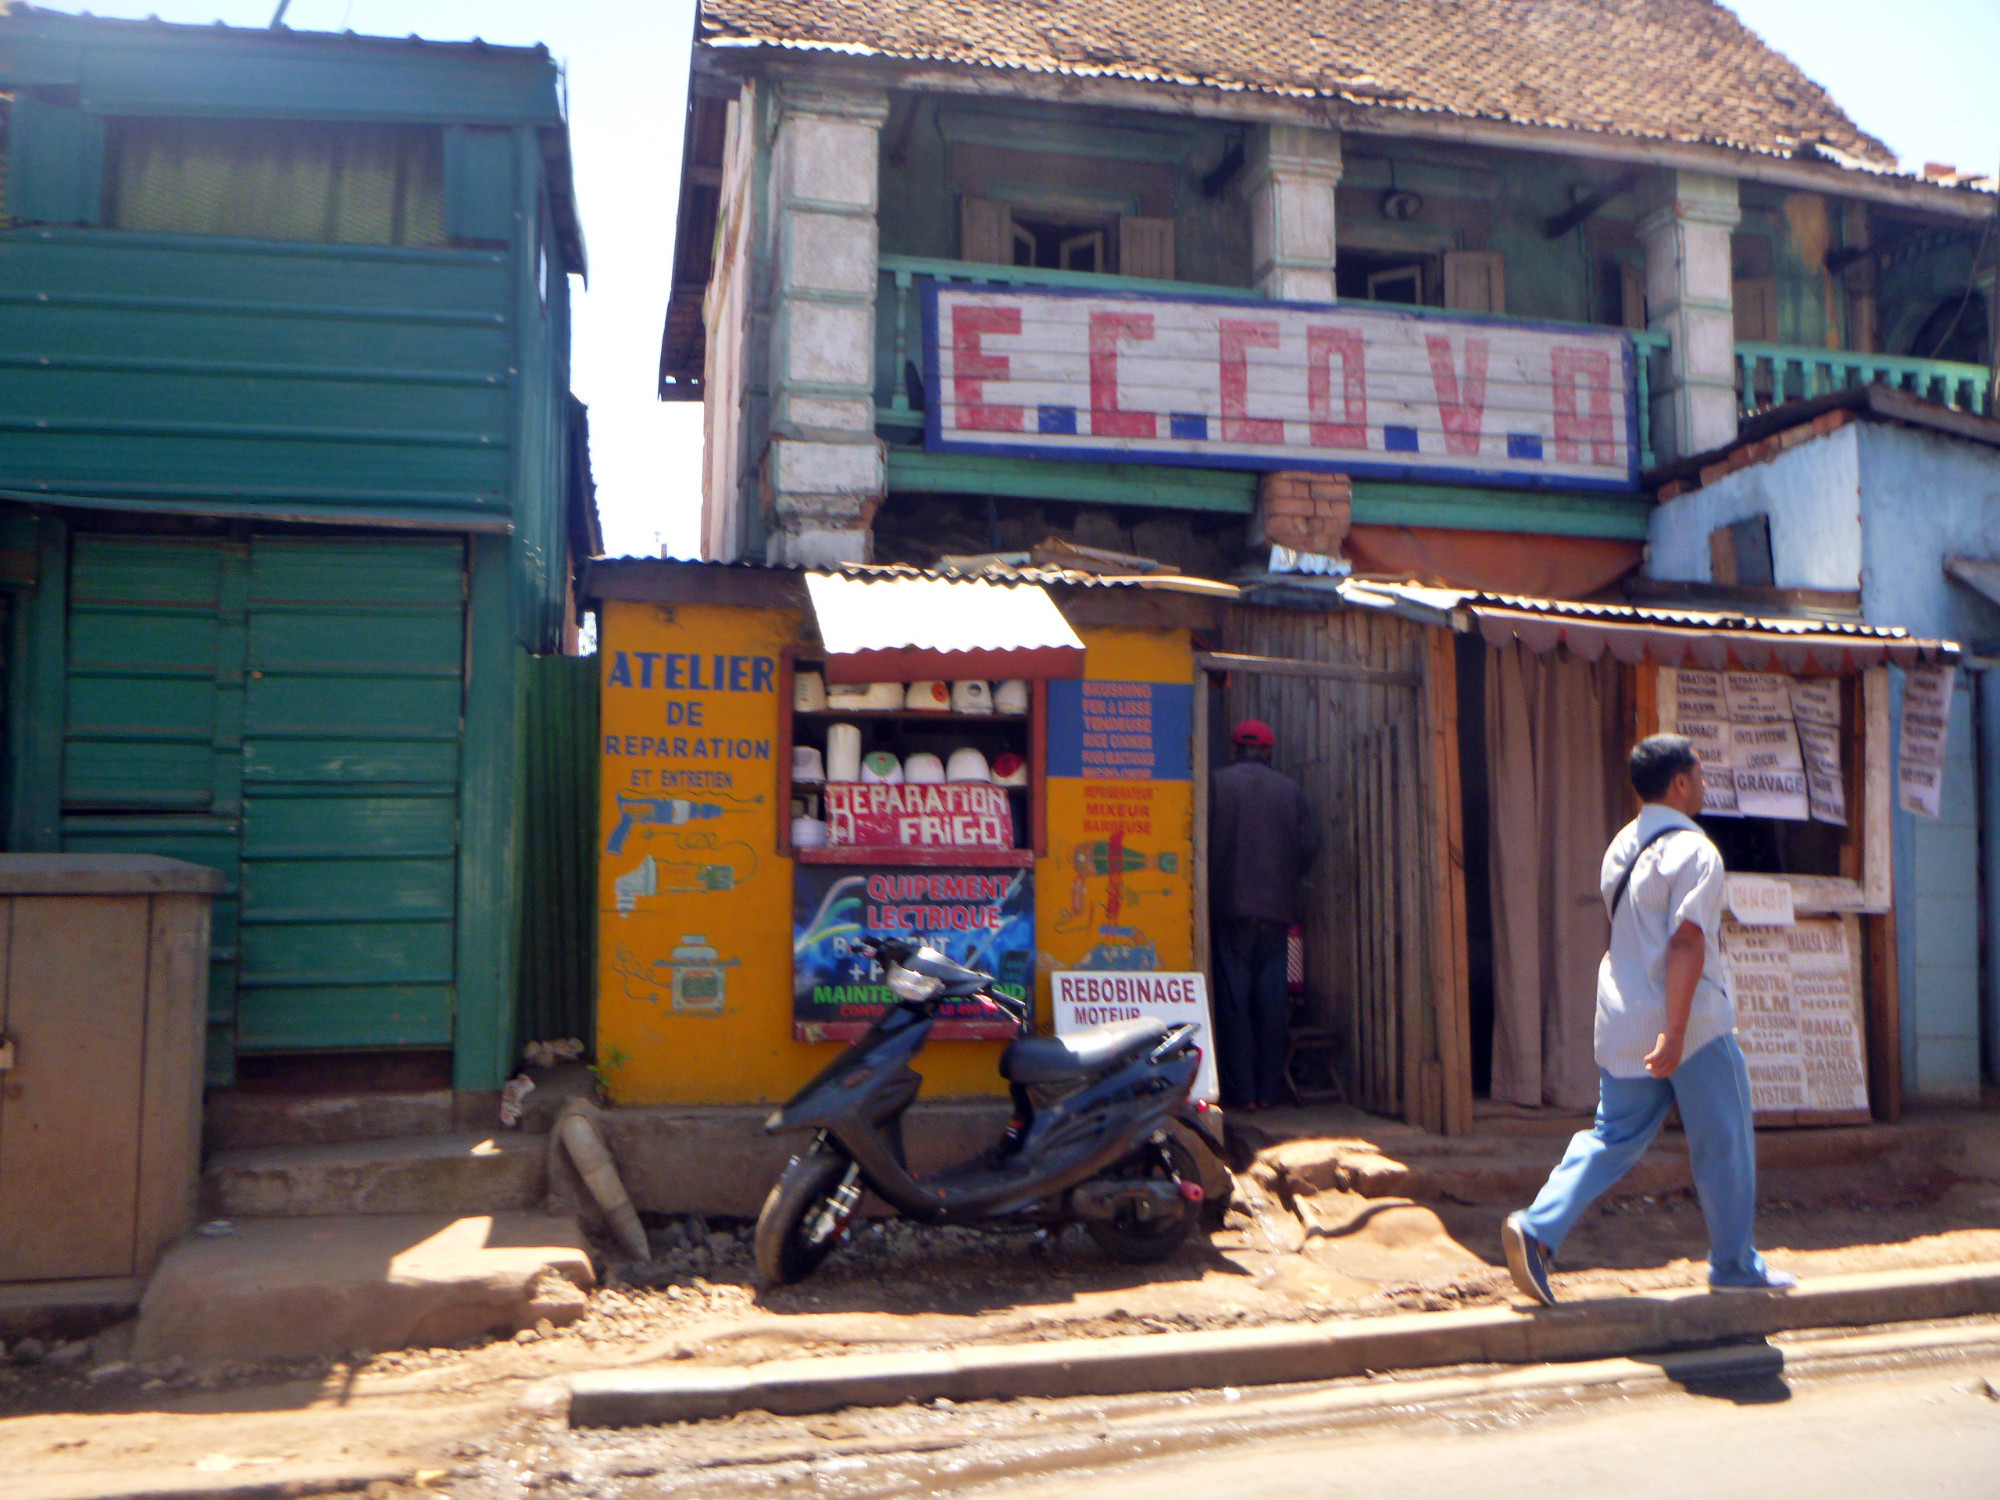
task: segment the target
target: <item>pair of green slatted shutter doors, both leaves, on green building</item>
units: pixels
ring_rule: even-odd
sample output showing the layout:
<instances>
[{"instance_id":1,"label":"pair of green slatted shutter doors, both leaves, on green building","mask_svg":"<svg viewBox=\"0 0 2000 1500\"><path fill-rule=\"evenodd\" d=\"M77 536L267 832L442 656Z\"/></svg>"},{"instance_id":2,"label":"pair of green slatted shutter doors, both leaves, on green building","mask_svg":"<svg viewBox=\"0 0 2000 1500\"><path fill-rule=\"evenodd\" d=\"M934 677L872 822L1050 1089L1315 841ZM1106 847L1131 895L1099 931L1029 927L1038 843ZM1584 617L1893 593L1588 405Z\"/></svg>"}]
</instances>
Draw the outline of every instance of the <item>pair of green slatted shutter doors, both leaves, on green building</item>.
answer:
<instances>
[{"instance_id":1,"label":"pair of green slatted shutter doors, both leaves, on green building","mask_svg":"<svg viewBox=\"0 0 2000 1500\"><path fill-rule=\"evenodd\" d=\"M464 610L458 540L76 538L62 846L230 880L218 1082L452 1044Z\"/></svg>"}]
</instances>

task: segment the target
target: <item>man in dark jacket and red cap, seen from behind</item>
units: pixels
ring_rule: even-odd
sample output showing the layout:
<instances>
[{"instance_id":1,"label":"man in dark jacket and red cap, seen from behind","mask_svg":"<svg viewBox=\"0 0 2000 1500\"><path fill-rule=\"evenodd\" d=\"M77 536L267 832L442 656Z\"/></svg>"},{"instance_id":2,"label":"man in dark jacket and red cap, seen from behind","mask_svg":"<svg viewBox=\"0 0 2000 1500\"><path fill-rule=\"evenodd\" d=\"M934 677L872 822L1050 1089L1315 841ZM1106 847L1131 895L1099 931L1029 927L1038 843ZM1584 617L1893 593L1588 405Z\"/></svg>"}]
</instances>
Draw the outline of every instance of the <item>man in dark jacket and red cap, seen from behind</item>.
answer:
<instances>
[{"instance_id":1,"label":"man in dark jacket and red cap, seen from behind","mask_svg":"<svg viewBox=\"0 0 2000 1500\"><path fill-rule=\"evenodd\" d=\"M1222 1106L1284 1098L1284 948L1300 920L1298 882L1320 852L1306 794L1270 764L1270 724L1246 718L1236 760L1208 802L1208 894L1216 936L1216 1068Z\"/></svg>"}]
</instances>

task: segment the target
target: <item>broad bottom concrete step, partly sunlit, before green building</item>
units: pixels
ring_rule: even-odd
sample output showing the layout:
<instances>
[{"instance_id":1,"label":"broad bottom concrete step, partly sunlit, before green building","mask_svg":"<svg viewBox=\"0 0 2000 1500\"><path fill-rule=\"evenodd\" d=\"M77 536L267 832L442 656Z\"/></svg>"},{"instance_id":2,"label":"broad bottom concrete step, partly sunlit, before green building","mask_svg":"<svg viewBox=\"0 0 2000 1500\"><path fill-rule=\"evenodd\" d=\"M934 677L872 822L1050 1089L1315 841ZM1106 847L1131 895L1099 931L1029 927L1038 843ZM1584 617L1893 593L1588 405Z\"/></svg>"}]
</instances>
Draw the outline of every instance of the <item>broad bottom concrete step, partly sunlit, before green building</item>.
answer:
<instances>
[{"instance_id":1,"label":"broad bottom concrete step, partly sunlit, before green building","mask_svg":"<svg viewBox=\"0 0 2000 1500\"><path fill-rule=\"evenodd\" d=\"M576 1322L596 1286L574 1218L260 1218L190 1234L140 1302L132 1360L286 1360Z\"/></svg>"}]
</instances>

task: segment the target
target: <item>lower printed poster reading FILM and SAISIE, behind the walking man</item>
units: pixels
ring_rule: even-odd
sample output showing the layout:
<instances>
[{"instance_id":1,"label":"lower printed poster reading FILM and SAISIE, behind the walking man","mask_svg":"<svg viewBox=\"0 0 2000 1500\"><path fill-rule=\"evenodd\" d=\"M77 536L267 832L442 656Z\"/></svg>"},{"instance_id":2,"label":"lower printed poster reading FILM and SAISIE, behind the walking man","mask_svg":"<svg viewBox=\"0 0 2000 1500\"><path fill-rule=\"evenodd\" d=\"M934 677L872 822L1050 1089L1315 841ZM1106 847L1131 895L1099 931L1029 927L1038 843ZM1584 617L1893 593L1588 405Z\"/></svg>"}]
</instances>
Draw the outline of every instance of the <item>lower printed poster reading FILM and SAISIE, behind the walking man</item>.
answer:
<instances>
[{"instance_id":1,"label":"lower printed poster reading FILM and SAISIE, behind the walking man","mask_svg":"<svg viewBox=\"0 0 2000 1500\"><path fill-rule=\"evenodd\" d=\"M1852 922L1722 924L1736 1040L1756 1114L1868 1108L1866 1024Z\"/></svg>"}]
</instances>

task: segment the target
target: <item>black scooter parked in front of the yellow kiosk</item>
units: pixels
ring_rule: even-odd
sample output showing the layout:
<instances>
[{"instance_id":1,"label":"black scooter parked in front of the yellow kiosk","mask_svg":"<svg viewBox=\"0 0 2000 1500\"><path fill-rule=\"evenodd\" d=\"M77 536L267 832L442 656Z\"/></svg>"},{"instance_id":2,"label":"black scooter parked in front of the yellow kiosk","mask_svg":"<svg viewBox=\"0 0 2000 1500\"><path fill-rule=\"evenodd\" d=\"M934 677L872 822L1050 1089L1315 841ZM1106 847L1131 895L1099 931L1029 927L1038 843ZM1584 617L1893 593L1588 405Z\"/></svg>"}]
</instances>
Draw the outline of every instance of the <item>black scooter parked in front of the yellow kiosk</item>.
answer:
<instances>
[{"instance_id":1,"label":"black scooter parked in front of the yellow kiosk","mask_svg":"<svg viewBox=\"0 0 2000 1500\"><path fill-rule=\"evenodd\" d=\"M814 1132L756 1220L756 1264L770 1282L810 1276L840 1244L864 1188L922 1224L1082 1220L1114 1260L1174 1254L1202 1216L1202 1172L1168 1122L1182 1120L1222 1156L1220 1118L1188 1100L1202 1062L1192 1026L1124 1020L1036 1036L1026 1004L936 948L882 940L862 950L898 1002L764 1122ZM910 1058L938 1008L966 1000L1022 1028L1000 1058L1014 1118L990 1150L916 1178L902 1144L902 1114L922 1086Z\"/></svg>"}]
</instances>

